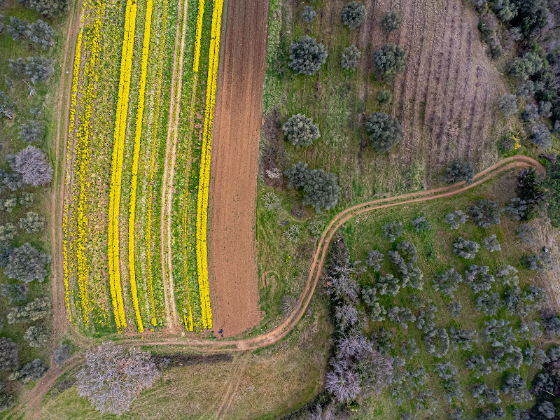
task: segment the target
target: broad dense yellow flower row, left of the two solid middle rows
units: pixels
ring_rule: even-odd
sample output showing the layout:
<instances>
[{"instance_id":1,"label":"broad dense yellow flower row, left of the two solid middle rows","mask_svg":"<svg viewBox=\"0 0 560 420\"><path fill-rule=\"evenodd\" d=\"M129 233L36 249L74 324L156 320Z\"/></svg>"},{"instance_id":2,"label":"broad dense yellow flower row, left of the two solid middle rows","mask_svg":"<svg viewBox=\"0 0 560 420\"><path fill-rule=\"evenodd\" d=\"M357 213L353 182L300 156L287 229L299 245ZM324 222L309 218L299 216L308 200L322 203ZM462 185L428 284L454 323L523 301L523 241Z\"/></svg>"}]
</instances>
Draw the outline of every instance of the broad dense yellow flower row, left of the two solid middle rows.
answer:
<instances>
[{"instance_id":1,"label":"broad dense yellow flower row, left of the two solid middle rows","mask_svg":"<svg viewBox=\"0 0 560 420\"><path fill-rule=\"evenodd\" d=\"M136 29L136 0L127 1L125 10L125 36L120 59L120 78L118 84L117 112L111 165L111 193L109 194L109 286L113 300L113 312L118 332L126 328L123 290L120 286L118 215L120 190L123 185L123 158L127 125L128 100L130 95L130 75L132 73L132 50L134 29Z\"/></svg>"}]
</instances>

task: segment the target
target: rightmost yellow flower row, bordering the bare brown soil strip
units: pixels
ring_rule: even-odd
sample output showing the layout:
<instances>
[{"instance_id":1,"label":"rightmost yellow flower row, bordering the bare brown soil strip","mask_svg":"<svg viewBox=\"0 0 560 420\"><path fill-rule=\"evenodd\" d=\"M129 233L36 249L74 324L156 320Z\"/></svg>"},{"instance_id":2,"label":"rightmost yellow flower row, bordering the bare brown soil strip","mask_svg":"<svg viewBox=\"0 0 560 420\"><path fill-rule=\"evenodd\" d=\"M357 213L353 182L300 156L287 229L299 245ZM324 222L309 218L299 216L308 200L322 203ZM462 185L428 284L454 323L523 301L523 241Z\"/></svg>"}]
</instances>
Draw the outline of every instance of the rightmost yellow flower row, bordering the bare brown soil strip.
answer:
<instances>
[{"instance_id":1,"label":"rightmost yellow flower row, bordering the bare brown soil strip","mask_svg":"<svg viewBox=\"0 0 560 420\"><path fill-rule=\"evenodd\" d=\"M208 283L208 193L210 183L210 151L214 106L216 106L216 79L218 77L218 53L220 50L220 31L223 0L216 0L212 12L212 28L208 62L206 108L204 109L204 132L202 134L202 153L200 157L200 179L197 199L197 272L202 308L202 328L212 328L210 308L210 289Z\"/></svg>"}]
</instances>

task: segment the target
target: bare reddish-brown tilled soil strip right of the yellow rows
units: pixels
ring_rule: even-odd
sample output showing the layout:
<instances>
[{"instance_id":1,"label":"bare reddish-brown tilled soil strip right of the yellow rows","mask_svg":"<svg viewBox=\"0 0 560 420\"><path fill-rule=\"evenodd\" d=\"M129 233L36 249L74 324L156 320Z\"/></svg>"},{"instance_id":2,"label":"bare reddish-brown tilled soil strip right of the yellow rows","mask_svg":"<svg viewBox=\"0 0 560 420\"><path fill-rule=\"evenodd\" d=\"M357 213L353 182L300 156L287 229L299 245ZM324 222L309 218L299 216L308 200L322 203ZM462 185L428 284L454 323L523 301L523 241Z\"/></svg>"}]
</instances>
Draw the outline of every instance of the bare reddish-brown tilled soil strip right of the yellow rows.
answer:
<instances>
[{"instance_id":1,"label":"bare reddish-brown tilled soil strip right of the yellow rows","mask_svg":"<svg viewBox=\"0 0 560 420\"><path fill-rule=\"evenodd\" d=\"M257 160L269 5L228 2L211 155L209 276L214 330L260 321L255 258Z\"/></svg>"}]
</instances>

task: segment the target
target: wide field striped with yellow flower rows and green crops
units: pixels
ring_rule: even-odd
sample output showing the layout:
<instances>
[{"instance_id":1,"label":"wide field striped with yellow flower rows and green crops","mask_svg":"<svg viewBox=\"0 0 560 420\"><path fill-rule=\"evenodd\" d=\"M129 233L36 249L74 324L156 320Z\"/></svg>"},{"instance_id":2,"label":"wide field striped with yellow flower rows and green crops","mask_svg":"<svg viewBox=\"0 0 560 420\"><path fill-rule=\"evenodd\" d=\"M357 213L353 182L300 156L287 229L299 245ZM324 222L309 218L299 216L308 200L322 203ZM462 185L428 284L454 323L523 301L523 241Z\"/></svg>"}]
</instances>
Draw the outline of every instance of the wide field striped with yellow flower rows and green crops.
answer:
<instances>
[{"instance_id":1,"label":"wide field striped with yellow flower rows and green crops","mask_svg":"<svg viewBox=\"0 0 560 420\"><path fill-rule=\"evenodd\" d=\"M90 0L81 10L66 141L66 312L94 335L211 328L205 255L223 0L122 6Z\"/></svg>"}]
</instances>

